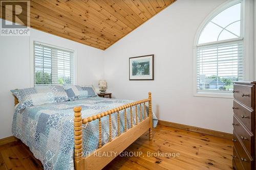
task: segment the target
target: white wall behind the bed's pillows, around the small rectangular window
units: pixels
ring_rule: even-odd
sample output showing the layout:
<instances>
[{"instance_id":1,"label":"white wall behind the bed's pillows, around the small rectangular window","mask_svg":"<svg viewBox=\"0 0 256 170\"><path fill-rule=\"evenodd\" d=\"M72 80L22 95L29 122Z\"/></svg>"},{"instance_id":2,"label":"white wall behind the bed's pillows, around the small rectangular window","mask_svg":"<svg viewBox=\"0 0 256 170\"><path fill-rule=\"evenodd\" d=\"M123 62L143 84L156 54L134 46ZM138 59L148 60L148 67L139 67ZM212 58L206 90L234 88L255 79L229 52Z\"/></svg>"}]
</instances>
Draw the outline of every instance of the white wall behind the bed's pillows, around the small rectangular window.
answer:
<instances>
[{"instance_id":1,"label":"white wall behind the bed's pillows, around the small rectangular window","mask_svg":"<svg viewBox=\"0 0 256 170\"><path fill-rule=\"evenodd\" d=\"M33 86L31 52L33 52L34 40L75 51L77 84L94 84L97 86L98 80L103 78L103 51L101 50L34 29L31 29L29 37L0 36L0 72L2 73L0 83L0 139L12 136L14 98L10 90Z\"/></svg>"}]
</instances>

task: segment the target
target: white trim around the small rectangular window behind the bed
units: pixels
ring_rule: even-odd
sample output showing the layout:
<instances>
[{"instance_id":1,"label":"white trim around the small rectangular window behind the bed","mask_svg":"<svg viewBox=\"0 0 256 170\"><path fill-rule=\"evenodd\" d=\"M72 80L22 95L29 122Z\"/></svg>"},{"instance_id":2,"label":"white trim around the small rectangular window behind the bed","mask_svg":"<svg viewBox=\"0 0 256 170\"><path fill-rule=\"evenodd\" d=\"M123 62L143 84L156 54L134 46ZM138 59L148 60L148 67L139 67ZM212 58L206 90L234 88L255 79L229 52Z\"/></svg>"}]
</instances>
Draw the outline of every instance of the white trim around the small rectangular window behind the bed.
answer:
<instances>
[{"instance_id":1,"label":"white trim around the small rectangular window behind the bed","mask_svg":"<svg viewBox=\"0 0 256 170\"><path fill-rule=\"evenodd\" d=\"M46 44L46 45L50 45L51 42L41 42L38 39L32 39L30 38L30 87L34 87L34 42L40 42L41 44ZM53 46L53 45L50 45ZM59 46L55 46L54 47L59 47ZM60 49L65 49L67 51L73 51L74 52L74 84L77 84L77 50L70 50L70 47L59 47Z\"/></svg>"}]
</instances>

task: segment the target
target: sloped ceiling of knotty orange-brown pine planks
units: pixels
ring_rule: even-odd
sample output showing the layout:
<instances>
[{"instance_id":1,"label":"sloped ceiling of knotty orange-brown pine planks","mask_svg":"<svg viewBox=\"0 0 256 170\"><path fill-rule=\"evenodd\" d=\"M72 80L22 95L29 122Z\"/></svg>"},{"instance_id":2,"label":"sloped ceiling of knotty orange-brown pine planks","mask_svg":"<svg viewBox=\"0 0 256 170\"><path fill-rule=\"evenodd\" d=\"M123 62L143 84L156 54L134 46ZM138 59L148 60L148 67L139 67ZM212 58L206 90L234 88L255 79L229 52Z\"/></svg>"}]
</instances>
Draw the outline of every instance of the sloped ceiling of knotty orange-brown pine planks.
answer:
<instances>
[{"instance_id":1,"label":"sloped ceiling of knotty orange-brown pine planks","mask_svg":"<svg viewBox=\"0 0 256 170\"><path fill-rule=\"evenodd\" d=\"M175 1L31 0L30 27L105 50Z\"/></svg>"}]
</instances>

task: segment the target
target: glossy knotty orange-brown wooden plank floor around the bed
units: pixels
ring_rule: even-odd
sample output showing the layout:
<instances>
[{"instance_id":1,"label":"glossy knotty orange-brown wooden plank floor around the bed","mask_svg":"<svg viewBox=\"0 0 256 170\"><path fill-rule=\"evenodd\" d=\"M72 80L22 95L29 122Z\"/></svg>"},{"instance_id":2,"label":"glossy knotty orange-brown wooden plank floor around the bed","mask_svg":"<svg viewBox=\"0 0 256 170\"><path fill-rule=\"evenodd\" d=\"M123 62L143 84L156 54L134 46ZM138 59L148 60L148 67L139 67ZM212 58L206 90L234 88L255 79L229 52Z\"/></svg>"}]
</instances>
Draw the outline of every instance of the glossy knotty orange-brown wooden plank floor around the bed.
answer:
<instances>
[{"instance_id":1,"label":"glossy knotty orange-brown wooden plank floor around the bed","mask_svg":"<svg viewBox=\"0 0 256 170\"><path fill-rule=\"evenodd\" d=\"M158 125L152 141L146 133L125 150L135 156L118 156L104 169L232 169L232 147L228 139ZM0 145L0 170L6 169L42 169L42 165L17 141Z\"/></svg>"}]
</instances>

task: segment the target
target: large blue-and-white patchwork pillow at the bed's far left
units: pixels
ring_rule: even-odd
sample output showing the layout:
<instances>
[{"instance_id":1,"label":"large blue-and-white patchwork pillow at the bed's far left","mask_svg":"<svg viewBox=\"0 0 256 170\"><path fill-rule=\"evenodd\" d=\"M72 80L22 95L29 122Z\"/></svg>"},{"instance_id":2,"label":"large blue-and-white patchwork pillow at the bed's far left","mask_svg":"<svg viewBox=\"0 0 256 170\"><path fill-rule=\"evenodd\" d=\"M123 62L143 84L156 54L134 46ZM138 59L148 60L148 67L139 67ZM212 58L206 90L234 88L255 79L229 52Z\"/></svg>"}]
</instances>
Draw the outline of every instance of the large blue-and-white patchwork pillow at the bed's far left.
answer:
<instances>
[{"instance_id":1,"label":"large blue-and-white patchwork pillow at the bed's far left","mask_svg":"<svg viewBox=\"0 0 256 170\"><path fill-rule=\"evenodd\" d=\"M68 101L68 95L62 86L36 86L25 89L15 89L11 92L18 99L17 109L38 106L48 103Z\"/></svg>"}]
</instances>

